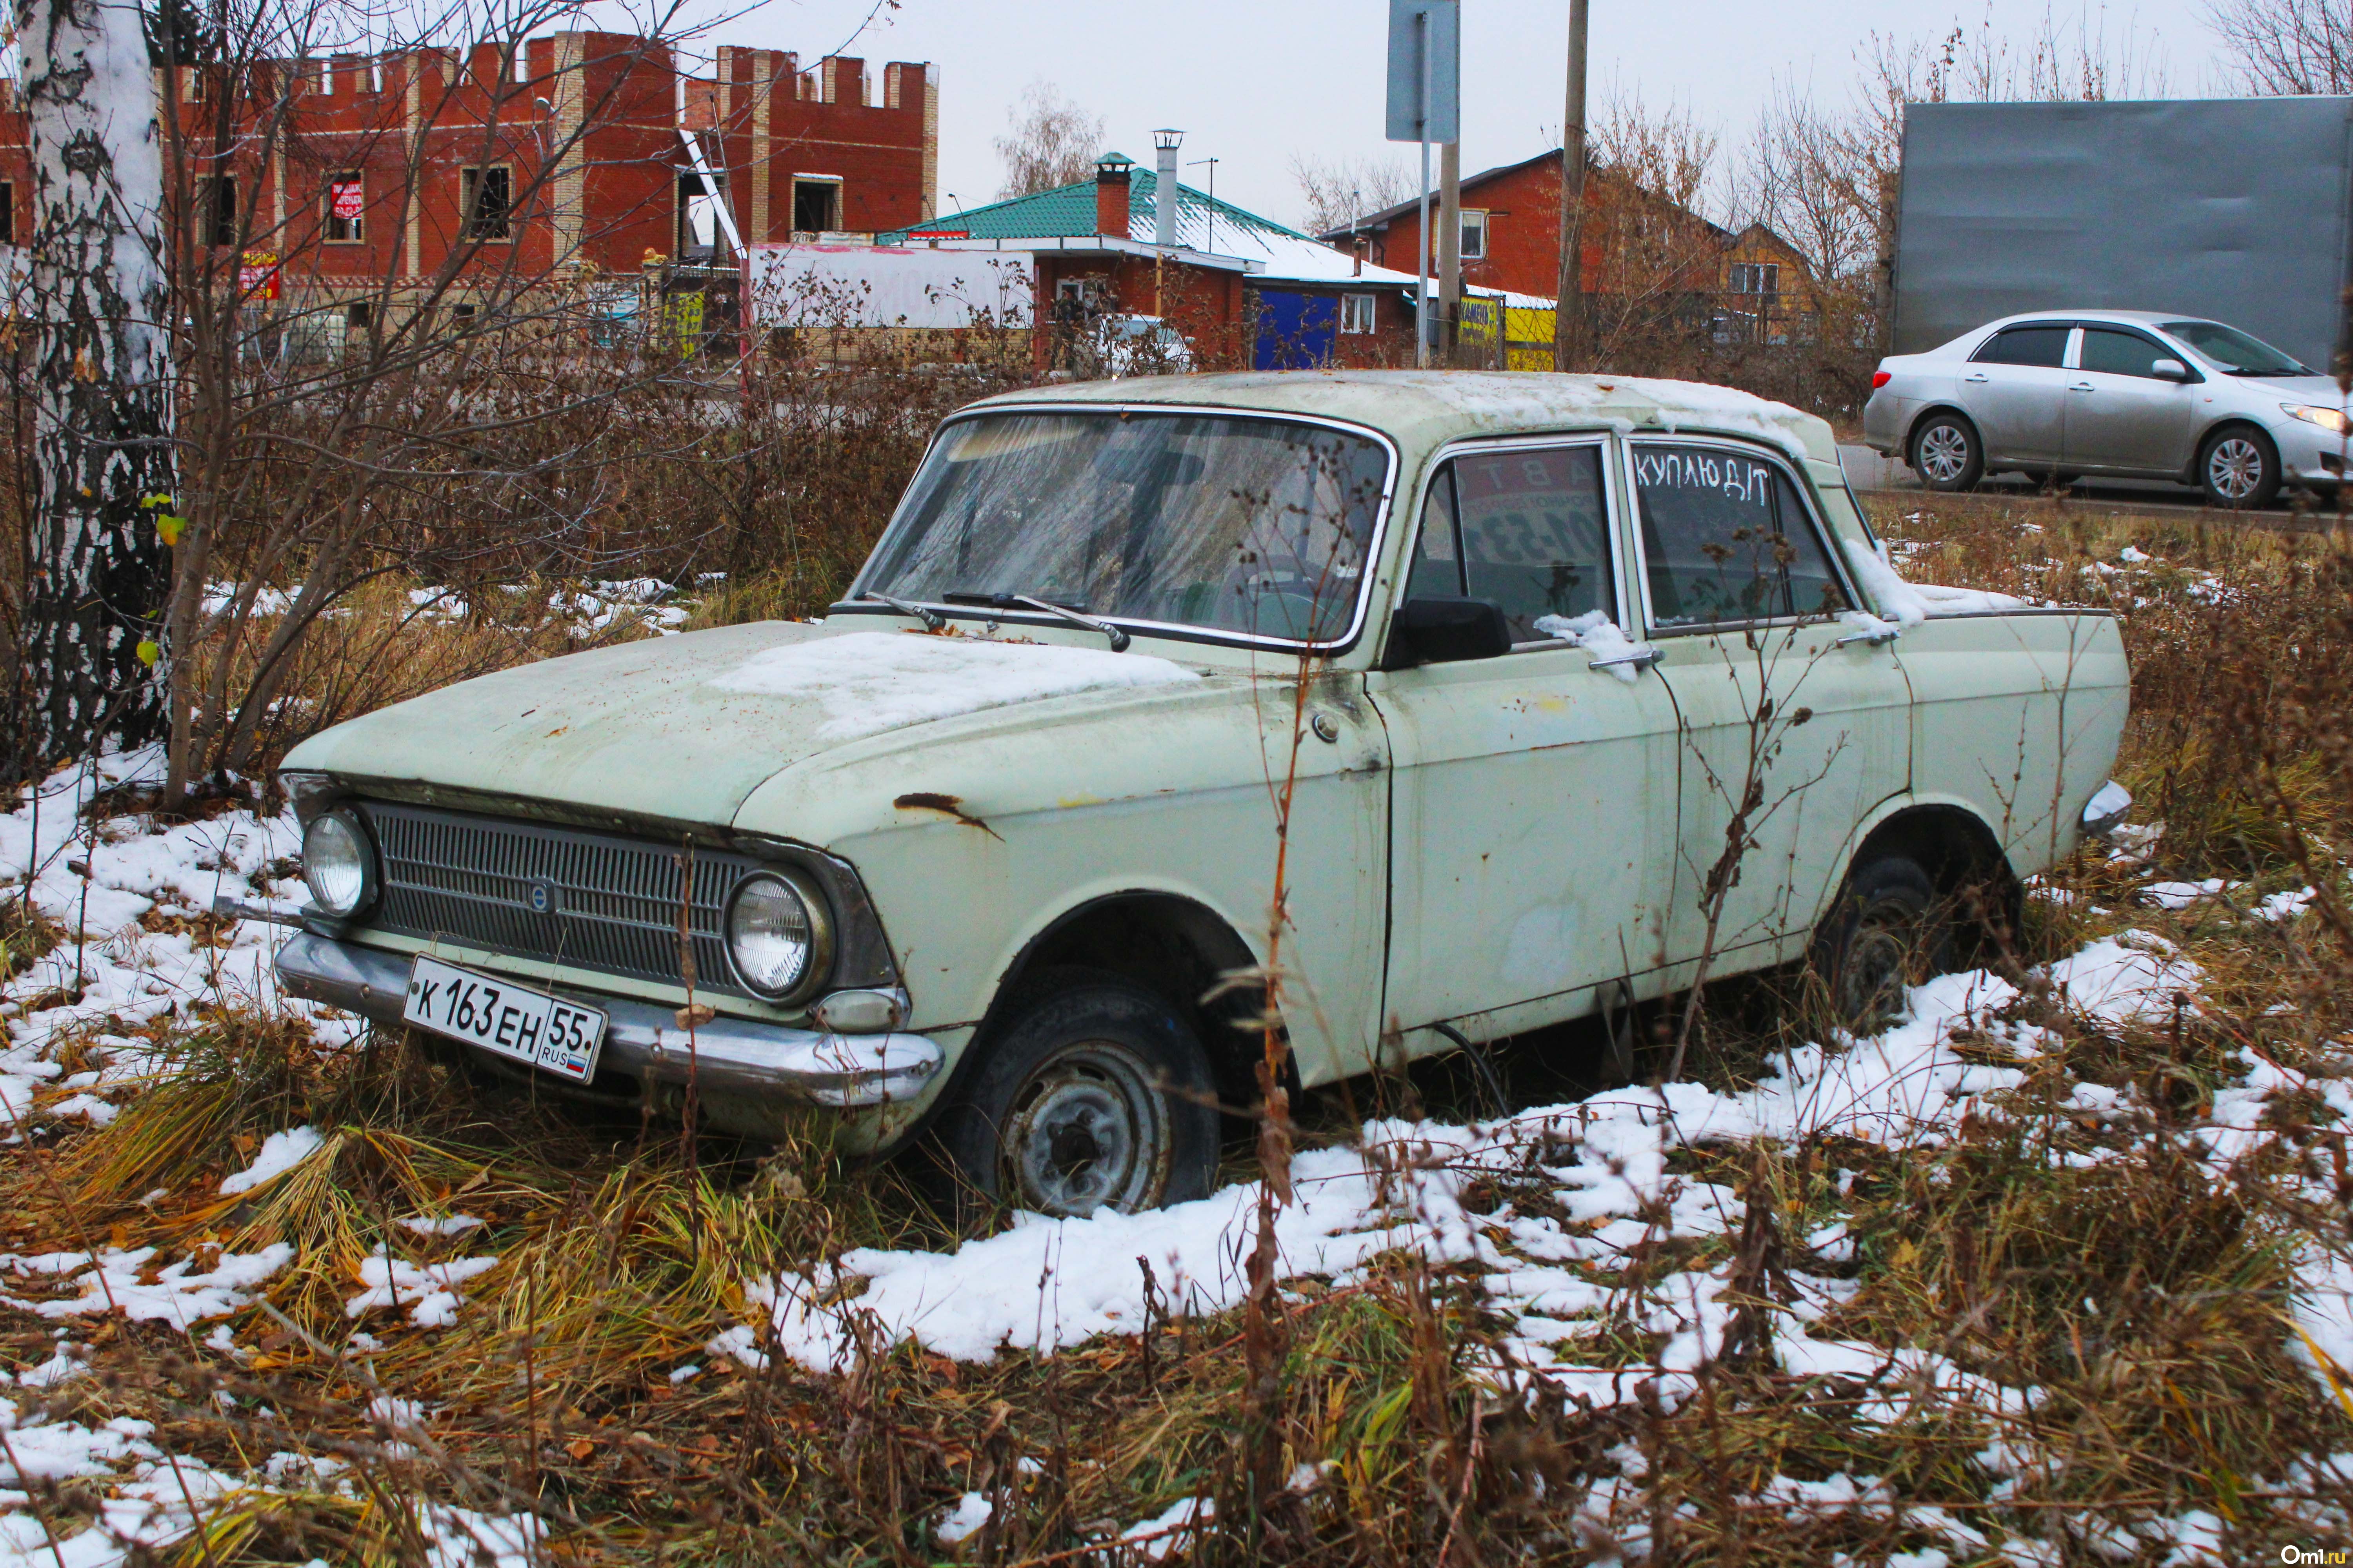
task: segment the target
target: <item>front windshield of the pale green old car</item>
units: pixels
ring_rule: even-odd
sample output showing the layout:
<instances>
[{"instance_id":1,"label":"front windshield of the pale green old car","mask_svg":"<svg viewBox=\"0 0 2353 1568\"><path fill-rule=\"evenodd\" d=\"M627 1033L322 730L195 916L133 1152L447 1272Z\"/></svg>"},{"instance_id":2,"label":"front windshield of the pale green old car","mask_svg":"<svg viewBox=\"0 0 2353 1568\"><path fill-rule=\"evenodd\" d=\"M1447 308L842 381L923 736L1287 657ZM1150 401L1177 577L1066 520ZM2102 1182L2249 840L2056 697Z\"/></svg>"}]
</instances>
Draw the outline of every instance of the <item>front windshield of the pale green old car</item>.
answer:
<instances>
[{"instance_id":1,"label":"front windshield of the pale green old car","mask_svg":"<svg viewBox=\"0 0 2353 1568\"><path fill-rule=\"evenodd\" d=\"M859 590L1337 642L1355 623L1388 451L1231 414L981 414L951 423Z\"/></svg>"}]
</instances>

